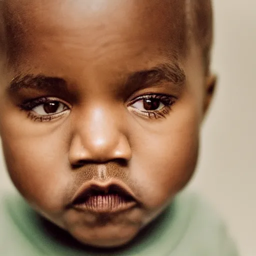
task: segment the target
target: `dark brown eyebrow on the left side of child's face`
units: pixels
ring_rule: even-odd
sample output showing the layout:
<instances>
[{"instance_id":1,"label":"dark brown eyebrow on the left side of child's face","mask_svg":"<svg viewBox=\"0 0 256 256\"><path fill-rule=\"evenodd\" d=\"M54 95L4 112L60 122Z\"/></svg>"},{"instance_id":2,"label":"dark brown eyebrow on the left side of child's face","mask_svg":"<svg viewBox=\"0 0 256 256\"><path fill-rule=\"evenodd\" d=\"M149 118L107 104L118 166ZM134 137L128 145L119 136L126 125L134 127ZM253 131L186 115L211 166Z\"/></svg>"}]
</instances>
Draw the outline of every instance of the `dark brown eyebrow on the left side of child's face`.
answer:
<instances>
[{"instance_id":1,"label":"dark brown eyebrow on the left side of child's face","mask_svg":"<svg viewBox=\"0 0 256 256\"><path fill-rule=\"evenodd\" d=\"M9 92L18 92L26 88L48 91L63 90L66 89L66 81L62 78L42 74L26 74L24 76L18 75L13 78L8 86Z\"/></svg>"}]
</instances>

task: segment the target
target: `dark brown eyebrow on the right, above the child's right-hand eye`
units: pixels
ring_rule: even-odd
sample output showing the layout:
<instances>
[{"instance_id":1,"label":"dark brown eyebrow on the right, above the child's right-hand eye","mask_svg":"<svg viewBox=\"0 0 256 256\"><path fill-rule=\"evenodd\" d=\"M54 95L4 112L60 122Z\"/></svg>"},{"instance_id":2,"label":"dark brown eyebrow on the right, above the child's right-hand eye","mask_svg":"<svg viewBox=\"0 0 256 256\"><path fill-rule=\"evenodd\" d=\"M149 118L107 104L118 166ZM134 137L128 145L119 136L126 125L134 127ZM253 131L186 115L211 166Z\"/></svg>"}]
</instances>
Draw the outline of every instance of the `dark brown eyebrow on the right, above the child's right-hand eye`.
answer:
<instances>
[{"instance_id":1,"label":"dark brown eyebrow on the right, above the child's right-hand eye","mask_svg":"<svg viewBox=\"0 0 256 256\"><path fill-rule=\"evenodd\" d=\"M182 87L185 83L186 75L183 68L177 63L162 63L148 70L132 73L128 77L127 84L140 83L142 86L147 86L161 80L166 80L173 85Z\"/></svg>"}]
</instances>

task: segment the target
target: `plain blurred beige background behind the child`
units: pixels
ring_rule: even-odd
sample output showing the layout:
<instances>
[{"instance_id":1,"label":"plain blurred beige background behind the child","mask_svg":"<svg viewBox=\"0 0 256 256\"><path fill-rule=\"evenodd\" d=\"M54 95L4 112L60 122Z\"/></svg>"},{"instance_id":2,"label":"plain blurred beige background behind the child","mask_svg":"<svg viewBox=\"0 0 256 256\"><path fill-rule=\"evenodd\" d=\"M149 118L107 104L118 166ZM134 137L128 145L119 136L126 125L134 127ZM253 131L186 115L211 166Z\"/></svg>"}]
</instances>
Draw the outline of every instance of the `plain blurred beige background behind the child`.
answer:
<instances>
[{"instance_id":1,"label":"plain blurred beige background behind the child","mask_svg":"<svg viewBox=\"0 0 256 256\"><path fill-rule=\"evenodd\" d=\"M214 0L214 10L212 67L219 86L202 129L201 157L190 185L223 215L241 255L255 256L256 1ZM9 187L3 171L0 186Z\"/></svg>"}]
</instances>

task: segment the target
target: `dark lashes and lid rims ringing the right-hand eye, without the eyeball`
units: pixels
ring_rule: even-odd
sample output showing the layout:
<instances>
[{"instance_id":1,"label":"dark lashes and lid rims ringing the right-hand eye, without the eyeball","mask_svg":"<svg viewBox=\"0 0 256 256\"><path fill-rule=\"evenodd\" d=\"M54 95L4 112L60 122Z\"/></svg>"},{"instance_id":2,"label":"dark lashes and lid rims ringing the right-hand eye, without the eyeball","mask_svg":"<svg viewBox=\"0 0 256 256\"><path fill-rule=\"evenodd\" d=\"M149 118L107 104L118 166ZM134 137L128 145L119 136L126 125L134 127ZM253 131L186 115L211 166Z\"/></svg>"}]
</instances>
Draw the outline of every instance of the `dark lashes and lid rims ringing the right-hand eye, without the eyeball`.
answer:
<instances>
[{"instance_id":1,"label":"dark lashes and lid rims ringing the right-hand eye, without the eyeball","mask_svg":"<svg viewBox=\"0 0 256 256\"><path fill-rule=\"evenodd\" d=\"M135 107L132 107L131 105L134 104L137 101L145 100L145 99L159 99L159 101L164 104L164 107L160 110L139 110ZM137 114L141 115L142 117L147 117L150 119L159 119L159 118L165 118L166 115L170 112L171 106L175 103L175 97L166 95L166 94L145 94L138 96L134 99L132 99L128 106L132 107L133 111L135 111Z\"/></svg>"}]
</instances>

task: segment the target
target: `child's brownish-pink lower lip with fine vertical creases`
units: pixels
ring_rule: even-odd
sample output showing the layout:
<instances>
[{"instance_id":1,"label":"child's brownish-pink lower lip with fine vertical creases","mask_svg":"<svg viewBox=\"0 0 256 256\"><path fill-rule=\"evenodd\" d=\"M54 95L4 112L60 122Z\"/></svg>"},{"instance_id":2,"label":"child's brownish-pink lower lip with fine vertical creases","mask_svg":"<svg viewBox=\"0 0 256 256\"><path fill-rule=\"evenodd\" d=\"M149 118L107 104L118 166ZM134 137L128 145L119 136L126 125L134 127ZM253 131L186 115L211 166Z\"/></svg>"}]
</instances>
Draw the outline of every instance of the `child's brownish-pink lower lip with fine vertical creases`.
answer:
<instances>
[{"instance_id":1,"label":"child's brownish-pink lower lip with fine vertical creases","mask_svg":"<svg viewBox=\"0 0 256 256\"><path fill-rule=\"evenodd\" d=\"M133 200L126 200L117 194L93 195L86 201L74 204L74 208L95 213L114 213L130 209L136 205Z\"/></svg>"}]
</instances>

